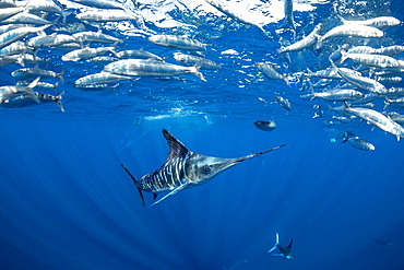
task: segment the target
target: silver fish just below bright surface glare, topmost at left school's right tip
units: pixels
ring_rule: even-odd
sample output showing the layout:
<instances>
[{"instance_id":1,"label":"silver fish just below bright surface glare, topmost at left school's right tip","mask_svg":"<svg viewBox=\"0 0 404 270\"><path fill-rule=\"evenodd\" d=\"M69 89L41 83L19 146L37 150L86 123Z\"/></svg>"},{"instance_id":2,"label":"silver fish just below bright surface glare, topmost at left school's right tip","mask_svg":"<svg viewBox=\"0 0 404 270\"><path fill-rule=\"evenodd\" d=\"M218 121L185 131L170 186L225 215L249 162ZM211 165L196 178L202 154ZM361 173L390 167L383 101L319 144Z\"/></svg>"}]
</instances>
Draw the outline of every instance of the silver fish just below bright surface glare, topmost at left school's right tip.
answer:
<instances>
[{"instance_id":1,"label":"silver fish just below bright surface glare, topmost at left school's right tip","mask_svg":"<svg viewBox=\"0 0 404 270\"><path fill-rule=\"evenodd\" d=\"M206 50L206 45L186 36L153 35L148 37L148 42L174 49L197 50L197 51Z\"/></svg>"}]
</instances>

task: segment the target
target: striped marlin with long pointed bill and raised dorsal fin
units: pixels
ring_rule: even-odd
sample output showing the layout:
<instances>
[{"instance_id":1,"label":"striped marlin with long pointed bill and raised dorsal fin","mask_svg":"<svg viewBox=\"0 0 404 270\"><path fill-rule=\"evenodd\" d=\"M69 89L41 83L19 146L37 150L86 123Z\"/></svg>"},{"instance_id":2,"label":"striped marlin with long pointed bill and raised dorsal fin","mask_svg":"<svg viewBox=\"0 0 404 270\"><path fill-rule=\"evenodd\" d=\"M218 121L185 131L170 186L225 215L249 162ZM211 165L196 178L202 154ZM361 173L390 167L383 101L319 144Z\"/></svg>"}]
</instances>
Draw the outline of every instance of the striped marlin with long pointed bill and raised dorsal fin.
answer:
<instances>
[{"instance_id":1,"label":"striped marlin with long pointed bill and raised dorsal fin","mask_svg":"<svg viewBox=\"0 0 404 270\"><path fill-rule=\"evenodd\" d=\"M153 192L154 199L157 198L157 193L168 191L166 196L150 206L152 207L182 189L192 188L211 180L219 173L242 161L262 155L286 145L283 144L243 157L221 159L189 151L182 142L176 139L166 129L163 129L163 136L167 140L169 153L166 162L158 169L144 175L142 178L136 180L129 169L123 164L120 164L127 174L132 178L134 186L138 188L143 207L144 198L142 191Z\"/></svg>"}]
</instances>

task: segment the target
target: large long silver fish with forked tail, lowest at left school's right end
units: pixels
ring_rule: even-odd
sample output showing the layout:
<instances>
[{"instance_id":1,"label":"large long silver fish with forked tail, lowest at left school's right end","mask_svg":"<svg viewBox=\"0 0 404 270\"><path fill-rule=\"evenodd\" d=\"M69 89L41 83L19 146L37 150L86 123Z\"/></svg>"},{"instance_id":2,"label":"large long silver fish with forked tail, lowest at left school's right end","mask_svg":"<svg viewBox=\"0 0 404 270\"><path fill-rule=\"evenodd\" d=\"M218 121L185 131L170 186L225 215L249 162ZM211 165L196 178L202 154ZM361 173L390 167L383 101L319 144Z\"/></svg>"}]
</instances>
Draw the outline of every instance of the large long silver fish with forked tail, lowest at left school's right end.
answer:
<instances>
[{"instance_id":1,"label":"large long silver fish with forked tail, lowest at left school's right end","mask_svg":"<svg viewBox=\"0 0 404 270\"><path fill-rule=\"evenodd\" d=\"M167 63L157 60L147 59L126 59L105 66L104 71L123 75L139 77L167 77L192 73L206 81L198 67L182 67L178 64Z\"/></svg>"}]
</instances>

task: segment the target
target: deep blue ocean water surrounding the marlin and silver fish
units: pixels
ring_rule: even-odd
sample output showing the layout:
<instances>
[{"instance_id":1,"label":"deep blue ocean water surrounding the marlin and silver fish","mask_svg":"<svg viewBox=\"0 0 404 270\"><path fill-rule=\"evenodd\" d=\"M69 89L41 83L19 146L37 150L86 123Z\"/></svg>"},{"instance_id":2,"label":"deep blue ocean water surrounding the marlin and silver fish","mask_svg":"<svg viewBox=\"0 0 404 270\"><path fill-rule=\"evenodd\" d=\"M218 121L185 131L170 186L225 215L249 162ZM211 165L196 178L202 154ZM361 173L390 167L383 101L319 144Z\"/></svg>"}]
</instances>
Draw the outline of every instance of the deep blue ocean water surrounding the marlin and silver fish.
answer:
<instances>
[{"instance_id":1,"label":"deep blue ocean water surrounding the marlin and silver fish","mask_svg":"<svg viewBox=\"0 0 404 270\"><path fill-rule=\"evenodd\" d=\"M66 111L54 103L0 107L1 268L404 269L403 140L358 119L324 126L323 120L331 120L331 103L301 98L310 92L301 91L297 75L306 68L329 67L330 52L343 43L402 45L403 26L383 30L385 37L378 40L330 39L322 49L292 52L287 64L276 52L280 40L294 40L276 15L282 2L228 2L261 12L271 21L264 28L276 31L277 39L194 3L136 1L145 21L141 30L129 23L90 25L74 19L79 10L68 9L69 27L102 27L126 38L119 49L171 56L176 50L147 42L150 32L188 34L207 44L206 57L222 69L202 71L207 82L192 74L180 75L185 81L141 78L85 92L74 81L102 71L103 64L63 62L66 51L40 49L38 56L51 58L41 68L64 70L58 93L64 92ZM336 12L358 20L391 15L404 21L399 0L295 1L295 8L297 39L317 23L326 30L341 24ZM292 86L264 78L254 67L259 61L288 73ZM20 68L1 67L1 85L15 83L10 73ZM277 95L289 99L290 111L275 103ZM316 104L324 108L323 117L312 118ZM376 104L382 110L383 102ZM271 132L253 126L271 119L277 124ZM190 150L212 156L286 146L143 208L119 164L136 178L158 168L168 153L163 128ZM347 130L376 150L335 140ZM152 195L144 196L151 204ZM281 245L294 239L295 259L268 254L276 233Z\"/></svg>"}]
</instances>

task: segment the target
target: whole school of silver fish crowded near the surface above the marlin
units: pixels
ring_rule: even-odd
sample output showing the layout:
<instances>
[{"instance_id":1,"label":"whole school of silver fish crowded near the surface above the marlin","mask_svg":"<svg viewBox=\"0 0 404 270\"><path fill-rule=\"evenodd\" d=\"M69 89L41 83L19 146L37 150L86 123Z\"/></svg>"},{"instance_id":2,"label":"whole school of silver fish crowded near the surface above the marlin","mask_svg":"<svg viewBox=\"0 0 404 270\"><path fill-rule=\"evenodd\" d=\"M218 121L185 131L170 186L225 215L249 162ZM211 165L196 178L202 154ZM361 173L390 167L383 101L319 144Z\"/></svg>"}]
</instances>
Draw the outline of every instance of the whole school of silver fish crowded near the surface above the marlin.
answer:
<instances>
[{"instance_id":1,"label":"whole school of silver fish crowded near the surface above the marlin","mask_svg":"<svg viewBox=\"0 0 404 270\"><path fill-rule=\"evenodd\" d=\"M231 20L259 27L269 40L276 40L276 34L266 31L254 22L248 11L243 14L233 9L226 1L205 0ZM62 51L58 56L61 62L91 62L104 64L103 71L75 79L74 86L81 90L103 90L111 83L133 81L139 77L167 78L192 73L206 81L200 70L218 70L221 64L206 59L206 46L199 40L179 35L153 34L147 39L156 45L183 52L174 52L178 64L165 61L165 58L144 49L118 49L124 39L103 33L79 30L73 32L58 31L55 25L64 25L68 16L74 16L84 23L136 22L142 17L124 4L109 0L71 0L70 2L87 7L84 12L70 12L54 0L1 0L0 1L0 67L17 63L20 69L11 75L17 80L14 85L0 86L0 105L3 107L23 107L55 102L62 111L61 99L64 93L58 93L58 85L63 83L64 70L58 72L43 69L49 59L38 52ZM290 59L289 54L306 49L321 49L323 43L340 37L363 38L363 46L340 44L338 49L329 56L330 64L322 70L298 72L301 75L304 99L321 98L325 102L340 102L341 106L330 106L334 111L333 121L348 124L359 118L397 138L404 138L404 115L391 111L390 108L404 106L404 89L391 86L402 81L404 61L395 56L404 51L404 46L388 47L366 46L368 40L384 37L384 28L400 25L392 16L378 16L363 21L347 21L340 17L341 25L323 31L322 23L312 25L312 32L297 38L298 31L293 16L293 1L285 0L285 21L294 32L294 43L280 46L278 55ZM357 40L357 39L356 39ZM334 44L335 44L334 43ZM58 54L56 54L58 55ZM283 80L290 86L289 75L282 74L270 62L256 62L257 69L270 80ZM57 94L51 94L49 90ZM41 91L41 92L39 92ZM45 93L43 93L45 92ZM276 103L290 110L288 99L276 96ZM384 107L376 109L372 103L382 99ZM266 102L260 98L262 102ZM324 110L316 106L313 117L322 117ZM384 109L388 109L385 111ZM276 127L274 121L257 121L256 127L271 131ZM342 142L349 142L361 150L375 150L375 146L353 132L343 132Z\"/></svg>"}]
</instances>

